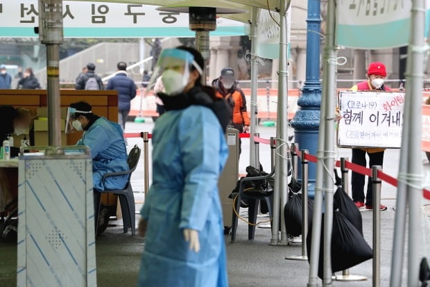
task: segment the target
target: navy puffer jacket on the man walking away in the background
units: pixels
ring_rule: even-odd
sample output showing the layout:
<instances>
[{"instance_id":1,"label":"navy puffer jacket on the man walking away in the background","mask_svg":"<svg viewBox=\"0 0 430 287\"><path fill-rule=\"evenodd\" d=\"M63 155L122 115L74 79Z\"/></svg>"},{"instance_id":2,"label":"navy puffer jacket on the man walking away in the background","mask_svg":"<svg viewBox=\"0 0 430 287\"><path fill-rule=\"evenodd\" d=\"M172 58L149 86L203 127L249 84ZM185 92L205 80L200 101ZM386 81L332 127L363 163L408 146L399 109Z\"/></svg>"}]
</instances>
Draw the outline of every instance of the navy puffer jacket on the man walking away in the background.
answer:
<instances>
[{"instance_id":1,"label":"navy puffer jacket on the man walking away in the background","mask_svg":"<svg viewBox=\"0 0 430 287\"><path fill-rule=\"evenodd\" d=\"M126 72L118 72L111 78L106 90L118 91L118 110L130 110L130 101L136 97L136 85Z\"/></svg>"}]
</instances>

